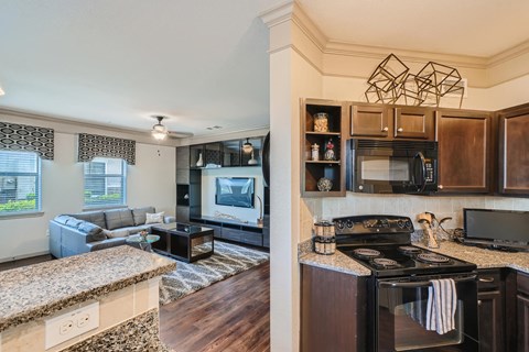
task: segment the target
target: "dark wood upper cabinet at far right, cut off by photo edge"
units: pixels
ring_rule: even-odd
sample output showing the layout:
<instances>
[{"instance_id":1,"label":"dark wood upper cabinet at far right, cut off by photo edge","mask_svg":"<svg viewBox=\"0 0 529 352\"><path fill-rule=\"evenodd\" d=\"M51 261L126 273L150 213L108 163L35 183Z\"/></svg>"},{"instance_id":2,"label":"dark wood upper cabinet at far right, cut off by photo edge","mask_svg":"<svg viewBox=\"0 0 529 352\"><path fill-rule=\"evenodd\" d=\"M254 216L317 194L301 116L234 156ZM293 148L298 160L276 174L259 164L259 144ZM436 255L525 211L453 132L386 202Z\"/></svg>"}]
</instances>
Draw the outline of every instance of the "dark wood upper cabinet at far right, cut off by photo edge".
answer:
<instances>
[{"instance_id":1,"label":"dark wood upper cabinet at far right, cut off by photo edge","mask_svg":"<svg viewBox=\"0 0 529 352\"><path fill-rule=\"evenodd\" d=\"M499 113L499 193L529 195L529 106Z\"/></svg>"}]
</instances>

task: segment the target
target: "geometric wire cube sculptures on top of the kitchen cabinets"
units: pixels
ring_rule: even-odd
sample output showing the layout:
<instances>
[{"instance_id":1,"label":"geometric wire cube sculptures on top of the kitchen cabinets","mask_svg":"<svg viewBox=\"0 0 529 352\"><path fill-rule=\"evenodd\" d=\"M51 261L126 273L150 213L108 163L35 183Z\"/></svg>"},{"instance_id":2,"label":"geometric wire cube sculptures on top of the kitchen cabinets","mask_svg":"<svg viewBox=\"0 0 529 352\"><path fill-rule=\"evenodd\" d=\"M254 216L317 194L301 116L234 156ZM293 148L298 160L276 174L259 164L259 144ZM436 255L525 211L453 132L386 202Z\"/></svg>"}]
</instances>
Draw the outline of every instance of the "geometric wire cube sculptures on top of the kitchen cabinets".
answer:
<instances>
[{"instance_id":1,"label":"geometric wire cube sculptures on top of the kitchen cabinets","mask_svg":"<svg viewBox=\"0 0 529 352\"><path fill-rule=\"evenodd\" d=\"M461 108L465 94L456 68L429 62L417 75L412 75L393 54L377 66L367 82L369 87L365 96L368 102L439 107L441 98L450 95L460 96Z\"/></svg>"}]
</instances>

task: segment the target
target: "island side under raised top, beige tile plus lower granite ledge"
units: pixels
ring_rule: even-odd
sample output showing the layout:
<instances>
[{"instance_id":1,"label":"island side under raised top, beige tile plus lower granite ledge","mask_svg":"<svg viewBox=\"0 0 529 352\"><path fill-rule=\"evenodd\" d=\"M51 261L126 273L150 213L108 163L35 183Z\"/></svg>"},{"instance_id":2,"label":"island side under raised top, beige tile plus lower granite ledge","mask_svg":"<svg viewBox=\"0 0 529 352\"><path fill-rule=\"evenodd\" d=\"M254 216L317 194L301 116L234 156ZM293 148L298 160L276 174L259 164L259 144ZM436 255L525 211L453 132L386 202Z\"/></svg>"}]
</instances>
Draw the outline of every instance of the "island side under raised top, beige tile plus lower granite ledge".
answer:
<instances>
[{"instance_id":1,"label":"island side under raised top, beige tile plus lower granite ledge","mask_svg":"<svg viewBox=\"0 0 529 352\"><path fill-rule=\"evenodd\" d=\"M48 350L45 350L45 319L96 299L8 328L0 334L0 352L169 351L159 339L159 283L158 276L99 297L99 327Z\"/></svg>"}]
</instances>

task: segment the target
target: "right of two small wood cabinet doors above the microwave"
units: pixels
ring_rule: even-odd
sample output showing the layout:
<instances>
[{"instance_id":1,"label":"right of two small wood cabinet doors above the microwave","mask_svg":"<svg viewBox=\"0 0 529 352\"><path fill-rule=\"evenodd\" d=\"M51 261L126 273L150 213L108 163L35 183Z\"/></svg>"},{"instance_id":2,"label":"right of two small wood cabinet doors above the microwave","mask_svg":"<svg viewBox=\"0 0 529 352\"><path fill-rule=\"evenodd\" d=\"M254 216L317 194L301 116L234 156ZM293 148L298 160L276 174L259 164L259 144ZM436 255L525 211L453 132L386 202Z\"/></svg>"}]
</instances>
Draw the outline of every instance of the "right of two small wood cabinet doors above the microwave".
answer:
<instances>
[{"instance_id":1,"label":"right of two small wood cabinet doors above the microwave","mask_svg":"<svg viewBox=\"0 0 529 352\"><path fill-rule=\"evenodd\" d=\"M396 139L435 139L433 110L425 108L395 108L393 136Z\"/></svg>"}]
</instances>

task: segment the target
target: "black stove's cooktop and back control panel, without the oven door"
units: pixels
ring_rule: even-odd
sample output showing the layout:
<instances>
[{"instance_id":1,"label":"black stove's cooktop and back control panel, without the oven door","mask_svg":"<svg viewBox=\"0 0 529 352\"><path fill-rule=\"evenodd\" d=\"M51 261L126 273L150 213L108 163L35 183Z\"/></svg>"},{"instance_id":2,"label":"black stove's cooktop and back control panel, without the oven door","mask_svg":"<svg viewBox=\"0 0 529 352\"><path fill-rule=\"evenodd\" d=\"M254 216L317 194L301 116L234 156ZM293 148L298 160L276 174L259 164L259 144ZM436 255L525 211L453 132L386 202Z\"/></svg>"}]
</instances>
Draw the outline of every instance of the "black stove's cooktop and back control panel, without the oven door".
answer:
<instances>
[{"instance_id":1,"label":"black stove's cooktop and back control panel, without the oven door","mask_svg":"<svg viewBox=\"0 0 529 352\"><path fill-rule=\"evenodd\" d=\"M476 270L476 265L411 244L413 223L399 216L333 219L336 248L369 267L374 276L435 275Z\"/></svg>"}]
</instances>

